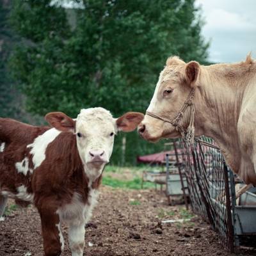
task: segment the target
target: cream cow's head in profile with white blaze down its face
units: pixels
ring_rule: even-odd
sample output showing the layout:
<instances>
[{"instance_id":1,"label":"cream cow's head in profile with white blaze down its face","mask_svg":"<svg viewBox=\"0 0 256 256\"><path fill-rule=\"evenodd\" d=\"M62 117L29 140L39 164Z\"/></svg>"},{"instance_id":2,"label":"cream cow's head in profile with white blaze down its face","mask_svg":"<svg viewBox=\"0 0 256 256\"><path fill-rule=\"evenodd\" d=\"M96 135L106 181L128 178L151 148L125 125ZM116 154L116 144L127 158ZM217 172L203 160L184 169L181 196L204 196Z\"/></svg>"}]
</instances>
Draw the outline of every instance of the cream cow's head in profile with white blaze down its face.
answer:
<instances>
[{"instance_id":1,"label":"cream cow's head in profile with white blaze down its face","mask_svg":"<svg viewBox=\"0 0 256 256\"><path fill-rule=\"evenodd\" d=\"M178 57L168 58L166 67L160 73L159 80L147 111L167 119L177 116L191 89L196 86L200 66L196 61L186 64ZM182 126L188 127L189 113L181 119ZM145 140L157 141L160 138L178 138L180 132L175 127L149 115L145 115L138 131Z\"/></svg>"}]
</instances>

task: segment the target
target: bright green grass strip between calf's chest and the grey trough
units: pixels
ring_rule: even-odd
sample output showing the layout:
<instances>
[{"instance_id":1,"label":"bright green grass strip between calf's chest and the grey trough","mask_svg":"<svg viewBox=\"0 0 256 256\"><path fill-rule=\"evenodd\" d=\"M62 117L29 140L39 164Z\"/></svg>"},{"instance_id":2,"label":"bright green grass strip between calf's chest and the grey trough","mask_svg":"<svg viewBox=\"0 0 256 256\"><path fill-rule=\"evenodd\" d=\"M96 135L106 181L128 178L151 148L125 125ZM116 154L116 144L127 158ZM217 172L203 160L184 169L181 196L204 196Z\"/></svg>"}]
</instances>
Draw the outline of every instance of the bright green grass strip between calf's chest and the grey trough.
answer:
<instances>
[{"instance_id":1,"label":"bright green grass strip between calf's chest and the grey trough","mask_svg":"<svg viewBox=\"0 0 256 256\"><path fill-rule=\"evenodd\" d=\"M120 180L110 176L103 176L102 184L111 186L113 188L125 188L125 189L141 189L141 179L136 177L132 180ZM143 189L154 188L152 183L144 183Z\"/></svg>"}]
</instances>

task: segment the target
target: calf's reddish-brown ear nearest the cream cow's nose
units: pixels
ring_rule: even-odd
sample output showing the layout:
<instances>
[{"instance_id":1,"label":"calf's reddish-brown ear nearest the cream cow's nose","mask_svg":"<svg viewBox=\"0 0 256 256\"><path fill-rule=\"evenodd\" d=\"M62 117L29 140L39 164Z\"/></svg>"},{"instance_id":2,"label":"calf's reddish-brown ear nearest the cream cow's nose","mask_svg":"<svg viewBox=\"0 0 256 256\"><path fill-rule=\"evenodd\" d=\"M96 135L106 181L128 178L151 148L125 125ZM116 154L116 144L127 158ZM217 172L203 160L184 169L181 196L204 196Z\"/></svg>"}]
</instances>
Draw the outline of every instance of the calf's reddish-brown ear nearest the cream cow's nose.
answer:
<instances>
[{"instance_id":1,"label":"calf's reddish-brown ear nearest the cream cow's nose","mask_svg":"<svg viewBox=\"0 0 256 256\"><path fill-rule=\"evenodd\" d=\"M143 118L144 115L142 113L127 112L116 119L117 130L123 132L134 131L143 120Z\"/></svg>"}]
</instances>

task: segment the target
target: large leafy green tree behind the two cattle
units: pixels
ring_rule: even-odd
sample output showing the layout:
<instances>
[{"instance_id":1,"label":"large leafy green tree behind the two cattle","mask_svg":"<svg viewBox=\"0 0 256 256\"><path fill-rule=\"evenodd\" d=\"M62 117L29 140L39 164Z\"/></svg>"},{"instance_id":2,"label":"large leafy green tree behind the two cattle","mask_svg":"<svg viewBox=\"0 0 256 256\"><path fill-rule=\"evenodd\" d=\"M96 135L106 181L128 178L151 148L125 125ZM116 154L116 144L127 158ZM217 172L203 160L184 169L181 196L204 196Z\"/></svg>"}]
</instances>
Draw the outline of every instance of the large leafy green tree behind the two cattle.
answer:
<instances>
[{"instance_id":1,"label":"large leafy green tree behind the two cattle","mask_svg":"<svg viewBox=\"0 0 256 256\"><path fill-rule=\"evenodd\" d=\"M81 108L102 106L114 116L145 112L168 56L206 61L208 44L194 2L84 0L84 8L72 11L51 0L14 1L13 28L29 44L17 47L10 65L28 111L76 116ZM128 134L127 161L162 147Z\"/></svg>"}]
</instances>

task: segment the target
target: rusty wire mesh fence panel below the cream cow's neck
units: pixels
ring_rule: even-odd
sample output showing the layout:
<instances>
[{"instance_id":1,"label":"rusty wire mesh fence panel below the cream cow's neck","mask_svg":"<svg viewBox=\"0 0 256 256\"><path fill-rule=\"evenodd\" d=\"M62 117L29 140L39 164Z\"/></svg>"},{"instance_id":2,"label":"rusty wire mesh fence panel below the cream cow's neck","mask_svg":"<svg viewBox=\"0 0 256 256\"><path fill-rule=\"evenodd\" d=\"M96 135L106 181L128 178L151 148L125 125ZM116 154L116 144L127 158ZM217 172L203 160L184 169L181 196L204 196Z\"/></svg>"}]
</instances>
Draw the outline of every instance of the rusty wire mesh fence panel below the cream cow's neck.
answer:
<instances>
[{"instance_id":1,"label":"rusty wire mesh fence panel below the cream cow's neck","mask_svg":"<svg viewBox=\"0 0 256 256\"><path fill-rule=\"evenodd\" d=\"M232 174L220 148L205 137L196 139L193 145L184 140L179 143L193 212L208 221L222 243L234 252L229 182Z\"/></svg>"}]
</instances>

